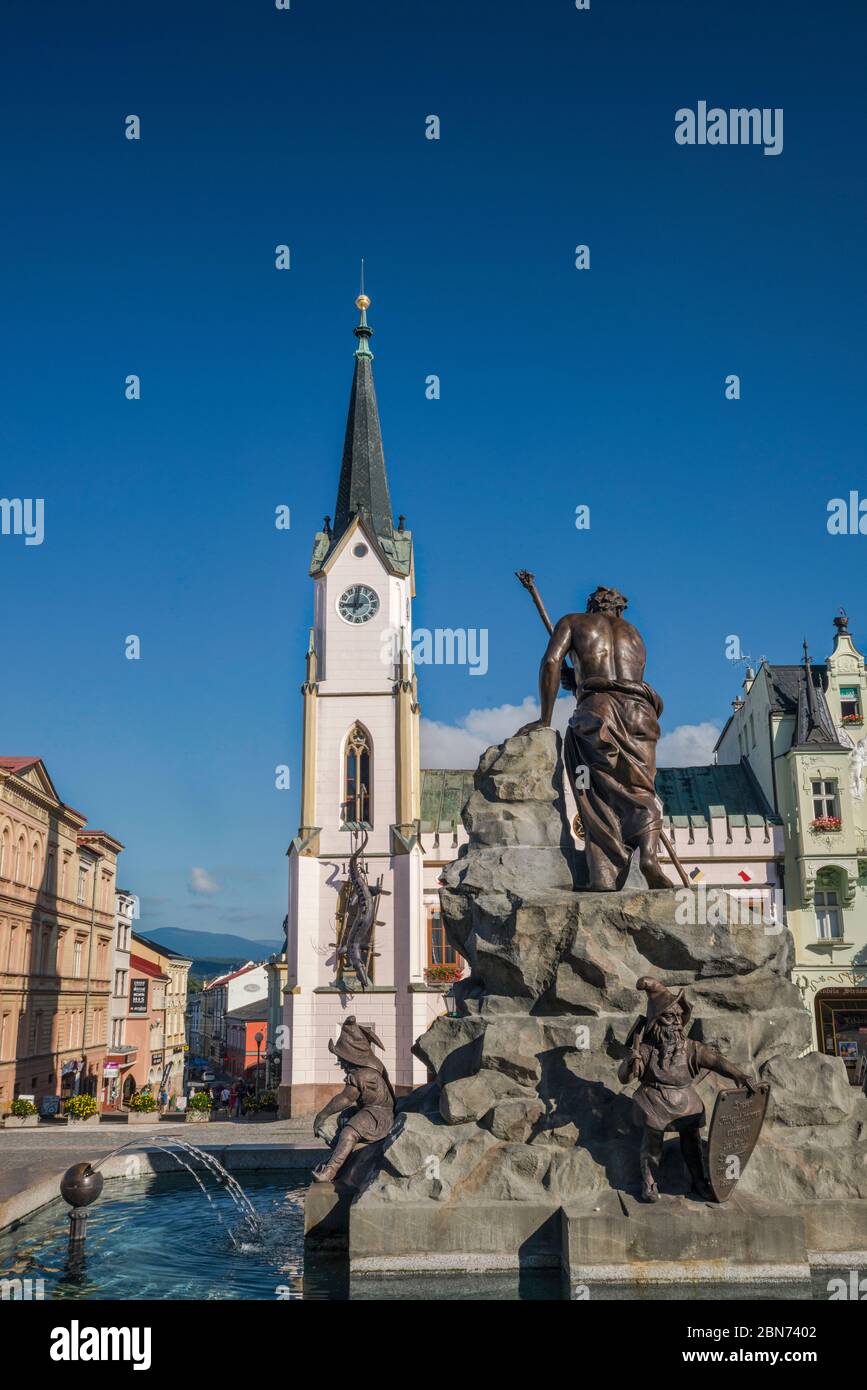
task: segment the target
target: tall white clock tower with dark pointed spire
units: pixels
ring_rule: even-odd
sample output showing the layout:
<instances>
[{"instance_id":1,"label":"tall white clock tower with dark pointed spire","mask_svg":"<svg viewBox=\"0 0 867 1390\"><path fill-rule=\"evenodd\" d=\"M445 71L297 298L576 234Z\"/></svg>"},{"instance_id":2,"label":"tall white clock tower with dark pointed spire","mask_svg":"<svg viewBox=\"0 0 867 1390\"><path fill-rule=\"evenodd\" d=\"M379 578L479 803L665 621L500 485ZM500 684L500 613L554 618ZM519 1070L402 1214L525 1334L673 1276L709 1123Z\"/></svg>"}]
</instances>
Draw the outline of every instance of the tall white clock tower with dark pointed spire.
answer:
<instances>
[{"instance_id":1,"label":"tall white clock tower with dark pointed spire","mask_svg":"<svg viewBox=\"0 0 867 1390\"><path fill-rule=\"evenodd\" d=\"M347 1015L375 1027L396 1088L425 1080L410 1052L428 1024L413 537L392 513L370 299L361 293L356 304L358 345L333 521L325 517L310 564L302 824L289 847L282 1115L313 1113L340 1088L328 1042ZM367 983L338 951L358 844L377 901Z\"/></svg>"}]
</instances>

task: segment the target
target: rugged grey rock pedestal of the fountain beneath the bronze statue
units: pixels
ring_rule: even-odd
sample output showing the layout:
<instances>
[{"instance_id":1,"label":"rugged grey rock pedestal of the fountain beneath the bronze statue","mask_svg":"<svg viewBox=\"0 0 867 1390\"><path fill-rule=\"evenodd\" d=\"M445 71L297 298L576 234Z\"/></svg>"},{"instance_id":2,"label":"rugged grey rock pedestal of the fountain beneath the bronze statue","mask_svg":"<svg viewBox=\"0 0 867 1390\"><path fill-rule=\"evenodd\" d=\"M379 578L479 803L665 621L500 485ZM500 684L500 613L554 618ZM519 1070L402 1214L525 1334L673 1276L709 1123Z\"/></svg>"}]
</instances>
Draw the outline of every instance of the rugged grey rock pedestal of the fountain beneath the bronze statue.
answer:
<instances>
[{"instance_id":1,"label":"rugged grey rock pedestal of the fountain beneath the bronze statue","mask_svg":"<svg viewBox=\"0 0 867 1390\"><path fill-rule=\"evenodd\" d=\"M604 1266L622 1248L621 1230L613 1258L603 1258L604 1230L618 1222L629 1222L631 1265L653 1264L654 1248L677 1259L671 1241L641 1234L661 1230L666 1204L636 1220L616 1197L639 1183L634 1087L620 1084L617 1066L646 1006L636 980L649 974L686 987L693 1037L771 1083L766 1129L736 1197L770 1204L773 1230L785 1227L777 1247L768 1236L753 1258L736 1232L759 1220L757 1208L750 1219L738 1205L725 1218L717 1208L714 1226L697 1215L702 1202L679 1197L674 1243L678 1229L689 1230L684 1258L700 1262L704 1226L725 1226L738 1247L729 1266L773 1265L778 1248L781 1270L802 1269L803 1223L792 1240L779 1205L867 1198L867 1101L842 1062L806 1051L810 1020L789 979L791 935L777 923L696 922L691 890L577 891L559 744L538 730L479 762L464 809L470 844L442 890L449 940L470 976L456 991L457 1016L436 1019L415 1044L432 1081L399 1102L389 1138L343 1175L356 1190L350 1259L381 1269L460 1268L461 1259L502 1268L556 1261L565 1250L581 1265L582 1248L592 1248L591 1264ZM727 1084L700 1081L707 1115ZM688 1187L674 1137L660 1187L675 1197ZM843 1220L814 1229L846 1240ZM718 1255L718 1241L714 1248Z\"/></svg>"}]
</instances>

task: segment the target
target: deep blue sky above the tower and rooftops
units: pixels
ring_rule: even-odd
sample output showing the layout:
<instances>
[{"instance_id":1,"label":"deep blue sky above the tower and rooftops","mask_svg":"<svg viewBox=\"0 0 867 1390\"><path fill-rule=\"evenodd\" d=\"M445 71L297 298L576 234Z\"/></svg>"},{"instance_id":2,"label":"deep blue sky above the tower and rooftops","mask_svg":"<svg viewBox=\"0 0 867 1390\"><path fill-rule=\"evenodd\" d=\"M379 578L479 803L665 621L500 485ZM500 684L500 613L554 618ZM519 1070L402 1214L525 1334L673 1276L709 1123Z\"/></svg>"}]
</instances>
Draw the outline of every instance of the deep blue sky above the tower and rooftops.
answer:
<instances>
[{"instance_id":1,"label":"deep blue sky above the tower and rooftops","mask_svg":"<svg viewBox=\"0 0 867 1390\"><path fill-rule=\"evenodd\" d=\"M415 623L489 630L427 717L534 689L518 566L629 596L668 731L724 720L728 634L824 656L842 603L864 645L825 509L867 495L866 39L860 0L3 7L0 495L46 538L0 537L0 752L126 842L143 929L279 931L360 256ZM675 145L699 100L784 153Z\"/></svg>"}]
</instances>

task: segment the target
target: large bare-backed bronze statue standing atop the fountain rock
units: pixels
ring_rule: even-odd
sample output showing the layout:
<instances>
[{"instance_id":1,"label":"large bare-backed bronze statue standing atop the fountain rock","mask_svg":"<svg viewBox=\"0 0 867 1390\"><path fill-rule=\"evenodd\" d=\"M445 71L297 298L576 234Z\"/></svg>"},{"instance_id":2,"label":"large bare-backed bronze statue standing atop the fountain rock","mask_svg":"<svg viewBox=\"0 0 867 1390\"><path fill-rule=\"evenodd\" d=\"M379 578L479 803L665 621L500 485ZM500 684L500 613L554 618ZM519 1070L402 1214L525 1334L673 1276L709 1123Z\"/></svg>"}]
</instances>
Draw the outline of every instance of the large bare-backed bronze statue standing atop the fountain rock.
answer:
<instances>
[{"instance_id":1,"label":"large bare-backed bronze statue standing atop the fountain rock","mask_svg":"<svg viewBox=\"0 0 867 1390\"><path fill-rule=\"evenodd\" d=\"M518 578L527 587L532 575ZM550 727L560 685L574 692L563 756L584 826L589 887L597 892L624 885L634 849L647 887L671 887L657 858L663 702L645 681L647 653L638 628L622 616L625 607L622 594L599 587L586 613L567 613L553 624L539 670L542 717L518 730Z\"/></svg>"}]
</instances>

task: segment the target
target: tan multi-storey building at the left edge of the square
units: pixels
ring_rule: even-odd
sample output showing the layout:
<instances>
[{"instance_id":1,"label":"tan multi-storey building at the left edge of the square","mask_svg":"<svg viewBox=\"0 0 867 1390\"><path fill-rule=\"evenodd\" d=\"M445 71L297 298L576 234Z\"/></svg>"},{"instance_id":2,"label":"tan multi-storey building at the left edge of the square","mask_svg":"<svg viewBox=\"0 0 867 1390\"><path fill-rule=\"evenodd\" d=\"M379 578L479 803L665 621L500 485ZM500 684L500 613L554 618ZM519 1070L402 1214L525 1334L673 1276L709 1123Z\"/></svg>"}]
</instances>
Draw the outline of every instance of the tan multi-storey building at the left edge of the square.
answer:
<instances>
[{"instance_id":1,"label":"tan multi-storey building at the left edge of the square","mask_svg":"<svg viewBox=\"0 0 867 1390\"><path fill-rule=\"evenodd\" d=\"M0 1112L104 1094L122 848L39 758L0 758Z\"/></svg>"}]
</instances>

